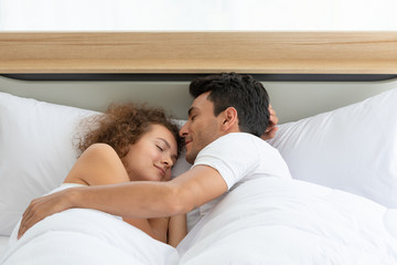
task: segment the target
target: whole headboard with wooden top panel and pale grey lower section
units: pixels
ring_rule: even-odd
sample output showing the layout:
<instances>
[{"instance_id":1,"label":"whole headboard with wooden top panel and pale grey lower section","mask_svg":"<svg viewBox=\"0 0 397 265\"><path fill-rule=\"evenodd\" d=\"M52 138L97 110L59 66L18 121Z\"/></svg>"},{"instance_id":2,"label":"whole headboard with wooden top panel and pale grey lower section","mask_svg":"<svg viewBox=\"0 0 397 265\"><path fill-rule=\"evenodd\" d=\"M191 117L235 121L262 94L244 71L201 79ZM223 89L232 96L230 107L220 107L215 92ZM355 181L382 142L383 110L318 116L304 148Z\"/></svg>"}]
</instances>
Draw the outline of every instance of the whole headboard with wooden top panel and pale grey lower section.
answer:
<instances>
[{"instance_id":1,"label":"whole headboard with wooden top panel and pale grey lower section","mask_svg":"<svg viewBox=\"0 0 397 265\"><path fill-rule=\"evenodd\" d=\"M189 81L219 72L255 75L296 120L396 86L397 32L0 33L0 91L95 110L129 97L185 118Z\"/></svg>"}]
</instances>

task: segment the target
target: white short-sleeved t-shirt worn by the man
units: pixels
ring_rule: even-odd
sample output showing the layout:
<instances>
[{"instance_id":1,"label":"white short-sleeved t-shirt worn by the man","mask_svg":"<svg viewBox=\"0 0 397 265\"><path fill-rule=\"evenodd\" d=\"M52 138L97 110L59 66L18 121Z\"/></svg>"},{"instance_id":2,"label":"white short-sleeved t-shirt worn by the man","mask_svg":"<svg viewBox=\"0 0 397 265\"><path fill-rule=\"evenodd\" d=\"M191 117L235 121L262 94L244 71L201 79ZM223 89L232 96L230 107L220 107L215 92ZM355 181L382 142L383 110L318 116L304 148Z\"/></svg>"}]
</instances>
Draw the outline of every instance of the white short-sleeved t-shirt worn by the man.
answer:
<instances>
[{"instance_id":1,"label":"white short-sleeved t-shirt worn by the man","mask_svg":"<svg viewBox=\"0 0 397 265\"><path fill-rule=\"evenodd\" d=\"M211 142L198 152L193 167L198 165L217 170L228 190L257 178L291 179L279 151L259 137L246 132L230 132ZM200 215L204 215L221 199L202 205Z\"/></svg>"}]
</instances>

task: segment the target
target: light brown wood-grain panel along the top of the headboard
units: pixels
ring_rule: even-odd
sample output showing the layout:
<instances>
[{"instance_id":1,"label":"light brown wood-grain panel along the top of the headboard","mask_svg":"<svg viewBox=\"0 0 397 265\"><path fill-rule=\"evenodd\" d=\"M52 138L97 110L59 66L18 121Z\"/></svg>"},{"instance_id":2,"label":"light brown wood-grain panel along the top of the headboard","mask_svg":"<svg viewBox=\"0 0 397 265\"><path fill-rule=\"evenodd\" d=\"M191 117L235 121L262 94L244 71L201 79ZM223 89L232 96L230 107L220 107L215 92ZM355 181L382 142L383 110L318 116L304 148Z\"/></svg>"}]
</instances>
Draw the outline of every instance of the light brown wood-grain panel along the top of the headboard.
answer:
<instances>
[{"instance_id":1,"label":"light brown wood-grain panel along the top of the headboard","mask_svg":"<svg viewBox=\"0 0 397 265\"><path fill-rule=\"evenodd\" d=\"M0 33L0 73L397 74L397 32Z\"/></svg>"}]
</instances>

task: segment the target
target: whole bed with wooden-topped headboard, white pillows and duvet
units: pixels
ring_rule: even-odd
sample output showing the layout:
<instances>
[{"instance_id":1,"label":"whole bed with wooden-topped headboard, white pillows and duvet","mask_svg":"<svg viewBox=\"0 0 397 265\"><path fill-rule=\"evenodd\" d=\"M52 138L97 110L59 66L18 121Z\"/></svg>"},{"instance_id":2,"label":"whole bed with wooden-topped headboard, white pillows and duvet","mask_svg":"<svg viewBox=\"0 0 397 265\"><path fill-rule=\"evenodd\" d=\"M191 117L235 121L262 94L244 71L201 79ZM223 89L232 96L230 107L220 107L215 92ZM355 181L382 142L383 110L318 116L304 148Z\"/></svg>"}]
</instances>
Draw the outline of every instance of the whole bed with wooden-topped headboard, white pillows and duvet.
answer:
<instances>
[{"instance_id":1,"label":"whole bed with wooden-topped headboard, white pillows and duvet","mask_svg":"<svg viewBox=\"0 0 397 265\"><path fill-rule=\"evenodd\" d=\"M0 258L397 264L396 47L396 32L0 33ZM129 98L183 123L189 81L232 71L253 74L269 92L280 128L268 142L292 181L247 182L213 210L194 210L176 248L78 210L67 215L71 225L55 216L13 239L29 201L60 186L75 161L78 120ZM173 174L185 170L181 158ZM85 231L85 219L97 227ZM34 251L37 236L51 255ZM65 247L79 242L94 254Z\"/></svg>"}]
</instances>

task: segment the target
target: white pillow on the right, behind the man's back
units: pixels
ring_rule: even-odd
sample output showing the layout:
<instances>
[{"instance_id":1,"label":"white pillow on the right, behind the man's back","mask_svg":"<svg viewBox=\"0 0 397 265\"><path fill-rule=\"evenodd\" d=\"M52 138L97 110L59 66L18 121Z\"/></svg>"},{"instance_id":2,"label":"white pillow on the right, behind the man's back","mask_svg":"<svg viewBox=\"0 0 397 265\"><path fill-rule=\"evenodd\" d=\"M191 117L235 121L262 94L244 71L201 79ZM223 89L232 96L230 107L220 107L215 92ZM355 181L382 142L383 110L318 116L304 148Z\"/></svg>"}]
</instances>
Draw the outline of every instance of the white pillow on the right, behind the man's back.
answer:
<instances>
[{"instance_id":1,"label":"white pillow on the right, behind the man's back","mask_svg":"<svg viewBox=\"0 0 397 265\"><path fill-rule=\"evenodd\" d=\"M269 144L292 178L397 208L397 88L280 125Z\"/></svg>"}]
</instances>

